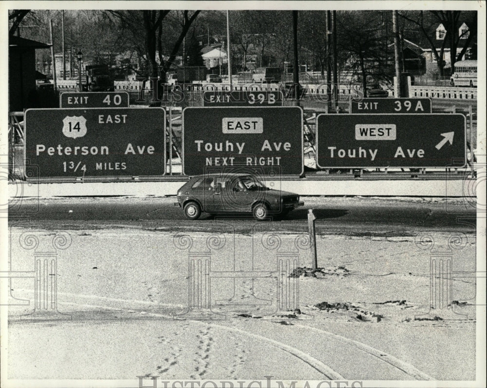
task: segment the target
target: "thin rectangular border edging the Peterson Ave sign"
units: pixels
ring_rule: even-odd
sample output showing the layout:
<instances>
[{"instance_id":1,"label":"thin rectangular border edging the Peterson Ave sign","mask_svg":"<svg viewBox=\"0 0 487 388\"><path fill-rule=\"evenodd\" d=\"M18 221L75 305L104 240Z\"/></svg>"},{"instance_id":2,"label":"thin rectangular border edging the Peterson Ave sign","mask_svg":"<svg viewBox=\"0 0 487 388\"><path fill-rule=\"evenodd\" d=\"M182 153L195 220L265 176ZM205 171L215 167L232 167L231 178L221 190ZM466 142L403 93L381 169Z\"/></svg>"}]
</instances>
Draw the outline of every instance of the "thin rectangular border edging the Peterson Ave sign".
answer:
<instances>
[{"instance_id":1,"label":"thin rectangular border edging the Peterson Ave sign","mask_svg":"<svg viewBox=\"0 0 487 388\"><path fill-rule=\"evenodd\" d=\"M101 92L101 93L104 93L104 92ZM102 181L102 180L109 180L109 181L113 181L113 180L133 180L134 177L136 177L136 179L140 179L142 178L143 180L146 179L146 180L153 180L154 178L158 177L158 176L164 176L166 175L166 166L168 164L168 160L167 160L167 138L166 138L166 122L167 122L167 113L166 113L166 109L164 107L159 107L159 108L130 108L130 107L119 107L119 108L54 108L54 109L48 109L48 108L31 108L31 109L27 109L25 112L24 112L24 120L25 120L25 127L24 127L24 150L23 150L23 159L24 159L24 166L26 166L26 159L27 159L27 156L26 156L26 152L27 152L27 134L28 134L28 122L26 120L27 118L27 113L29 111L53 111L53 110L56 110L56 111L86 111L86 110L89 110L89 111L107 111L107 110L112 110L112 111L117 111L117 110L121 110L121 109L131 109L133 111L136 111L136 112L140 112L142 109L149 109L150 111L155 111L156 109L164 112L164 117L163 117L163 120L161 122L161 128L160 130L162 131L162 136L163 136L163 143L164 143L164 156L163 156L163 171L162 171L162 174L158 174L158 175L133 175L133 174L125 174L125 175L82 175L82 179L88 179L88 180L93 180L93 181ZM142 155L141 155L142 156ZM55 180L55 181L59 181L59 180L63 180L63 181L69 181L69 182L72 182L72 181L77 181L77 180L80 180L81 179L81 175L69 175L69 176L62 176L62 175L56 175L56 176L38 176L35 178L36 181L50 181L50 180ZM26 176L26 180L28 181L29 180L29 177Z\"/></svg>"}]
</instances>

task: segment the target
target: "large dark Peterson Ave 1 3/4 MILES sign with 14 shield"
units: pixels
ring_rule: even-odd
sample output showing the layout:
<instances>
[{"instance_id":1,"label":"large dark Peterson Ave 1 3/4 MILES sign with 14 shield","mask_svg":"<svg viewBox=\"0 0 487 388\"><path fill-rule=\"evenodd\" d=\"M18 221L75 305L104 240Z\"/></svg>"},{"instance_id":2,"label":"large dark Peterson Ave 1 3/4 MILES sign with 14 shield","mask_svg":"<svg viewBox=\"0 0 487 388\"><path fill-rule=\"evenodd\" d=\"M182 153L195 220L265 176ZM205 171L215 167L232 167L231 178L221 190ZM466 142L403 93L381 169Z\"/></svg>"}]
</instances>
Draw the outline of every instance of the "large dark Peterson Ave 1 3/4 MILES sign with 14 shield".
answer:
<instances>
[{"instance_id":1,"label":"large dark Peterson Ave 1 3/4 MILES sign with 14 shield","mask_svg":"<svg viewBox=\"0 0 487 388\"><path fill-rule=\"evenodd\" d=\"M164 175L163 108L28 109L25 158L40 178Z\"/></svg>"}]
</instances>

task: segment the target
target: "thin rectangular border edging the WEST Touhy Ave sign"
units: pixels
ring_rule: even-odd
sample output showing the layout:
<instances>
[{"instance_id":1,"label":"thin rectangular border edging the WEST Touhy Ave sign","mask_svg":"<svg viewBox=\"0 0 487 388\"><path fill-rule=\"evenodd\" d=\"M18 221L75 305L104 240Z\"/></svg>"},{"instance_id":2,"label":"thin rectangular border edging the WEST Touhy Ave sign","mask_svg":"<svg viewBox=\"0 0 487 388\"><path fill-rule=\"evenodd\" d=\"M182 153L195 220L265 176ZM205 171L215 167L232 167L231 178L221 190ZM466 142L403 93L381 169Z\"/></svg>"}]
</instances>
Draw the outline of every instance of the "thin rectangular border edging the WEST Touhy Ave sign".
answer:
<instances>
[{"instance_id":1,"label":"thin rectangular border edging the WEST Touhy Ave sign","mask_svg":"<svg viewBox=\"0 0 487 388\"><path fill-rule=\"evenodd\" d=\"M465 115L461 113L456 113L456 114L444 114L444 113L432 113L429 114L428 116L462 116L463 117L463 141L464 141L464 163L462 165L451 165L451 166L408 166L408 165L402 165L402 166L320 166L318 164L318 149L319 149L319 125L318 125L318 117L319 116L327 116L327 117L337 117L337 116L368 116L367 114L364 113L349 113L349 114L340 114L340 115L328 115L326 113L322 113L316 116L316 154L315 154L315 159L316 159L316 166L319 169L377 169L377 168L408 168L408 169L424 169L424 168L431 168L431 169L446 169L446 168L464 168L467 165L467 118ZM376 113L376 114L371 114L369 116L397 116L398 118L400 117L397 114L393 113ZM404 114L402 116L410 117L410 116L421 116L425 117L425 114L423 113L409 113L409 114ZM445 129L445 131L448 131L448 129ZM395 140L394 140L395 141ZM451 157L451 159L457 159L455 157Z\"/></svg>"}]
</instances>

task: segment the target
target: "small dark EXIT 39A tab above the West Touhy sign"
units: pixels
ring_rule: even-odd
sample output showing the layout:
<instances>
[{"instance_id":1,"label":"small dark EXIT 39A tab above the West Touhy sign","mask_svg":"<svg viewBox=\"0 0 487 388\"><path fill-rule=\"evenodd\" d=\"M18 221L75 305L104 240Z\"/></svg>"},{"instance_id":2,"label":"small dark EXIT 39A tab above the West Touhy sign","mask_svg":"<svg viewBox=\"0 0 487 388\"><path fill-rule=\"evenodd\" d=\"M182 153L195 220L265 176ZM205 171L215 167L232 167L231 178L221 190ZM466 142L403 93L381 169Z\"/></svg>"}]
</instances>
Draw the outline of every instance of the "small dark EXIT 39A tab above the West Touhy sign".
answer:
<instances>
[{"instance_id":1,"label":"small dark EXIT 39A tab above the West Touhy sign","mask_svg":"<svg viewBox=\"0 0 487 388\"><path fill-rule=\"evenodd\" d=\"M350 100L350 113L430 114L431 98L362 98Z\"/></svg>"}]
</instances>

